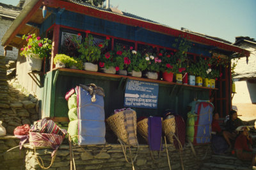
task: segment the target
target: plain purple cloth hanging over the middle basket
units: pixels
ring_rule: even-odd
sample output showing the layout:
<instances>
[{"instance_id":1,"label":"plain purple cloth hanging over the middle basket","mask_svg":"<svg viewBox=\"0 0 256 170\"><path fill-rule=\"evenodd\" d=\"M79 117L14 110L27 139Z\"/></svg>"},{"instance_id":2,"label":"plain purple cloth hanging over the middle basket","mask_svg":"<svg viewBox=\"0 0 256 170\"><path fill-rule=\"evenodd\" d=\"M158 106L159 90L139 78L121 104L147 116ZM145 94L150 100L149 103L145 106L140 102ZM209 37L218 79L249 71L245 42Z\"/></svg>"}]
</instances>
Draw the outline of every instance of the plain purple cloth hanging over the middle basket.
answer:
<instances>
[{"instance_id":1,"label":"plain purple cloth hanging over the middle basket","mask_svg":"<svg viewBox=\"0 0 256 170\"><path fill-rule=\"evenodd\" d=\"M150 150L161 150L162 121L160 117L148 118L148 145Z\"/></svg>"}]
</instances>

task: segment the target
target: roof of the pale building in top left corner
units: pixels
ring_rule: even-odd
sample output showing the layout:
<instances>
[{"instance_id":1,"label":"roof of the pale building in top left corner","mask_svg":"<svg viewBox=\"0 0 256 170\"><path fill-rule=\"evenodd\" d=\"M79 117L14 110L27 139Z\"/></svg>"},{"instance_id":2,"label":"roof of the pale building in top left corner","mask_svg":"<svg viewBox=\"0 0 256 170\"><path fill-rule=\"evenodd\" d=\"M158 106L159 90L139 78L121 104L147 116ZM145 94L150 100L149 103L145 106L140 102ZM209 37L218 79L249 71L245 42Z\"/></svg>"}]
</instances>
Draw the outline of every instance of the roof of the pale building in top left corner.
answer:
<instances>
[{"instance_id":1,"label":"roof of the pale building in top left corner","mask_svg":"<svg viewBox=\"0 0 256 170\"><path fill-rule=\"evenodd\" d=\"M0 3L0 16L2 17L16 19L16 17L20 14L21 10L22 8L20 7Z\"/></svg>"}]
</instances>

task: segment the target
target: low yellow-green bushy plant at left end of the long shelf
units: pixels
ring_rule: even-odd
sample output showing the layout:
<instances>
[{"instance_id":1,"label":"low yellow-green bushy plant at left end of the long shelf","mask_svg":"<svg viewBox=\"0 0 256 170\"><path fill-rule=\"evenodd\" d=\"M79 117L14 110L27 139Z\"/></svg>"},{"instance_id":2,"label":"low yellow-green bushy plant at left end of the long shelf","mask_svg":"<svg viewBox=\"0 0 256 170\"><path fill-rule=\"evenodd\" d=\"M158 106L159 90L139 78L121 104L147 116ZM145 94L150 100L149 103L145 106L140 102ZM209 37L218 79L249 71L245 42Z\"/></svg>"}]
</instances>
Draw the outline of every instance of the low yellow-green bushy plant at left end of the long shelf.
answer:
<instances>
[{"instance_id":1,"label":"low yellow-green bushy plant at left end of the long shelf","mask_svg":"<svg viewBox=\"0 0 256 170\"><path fill-rule=\"evenodd\" d=\"M83 63L79 59L71 58L65 54L56 54L53 59L56 68L74 68L82 70Z\"/></svg>"}]
</instances>

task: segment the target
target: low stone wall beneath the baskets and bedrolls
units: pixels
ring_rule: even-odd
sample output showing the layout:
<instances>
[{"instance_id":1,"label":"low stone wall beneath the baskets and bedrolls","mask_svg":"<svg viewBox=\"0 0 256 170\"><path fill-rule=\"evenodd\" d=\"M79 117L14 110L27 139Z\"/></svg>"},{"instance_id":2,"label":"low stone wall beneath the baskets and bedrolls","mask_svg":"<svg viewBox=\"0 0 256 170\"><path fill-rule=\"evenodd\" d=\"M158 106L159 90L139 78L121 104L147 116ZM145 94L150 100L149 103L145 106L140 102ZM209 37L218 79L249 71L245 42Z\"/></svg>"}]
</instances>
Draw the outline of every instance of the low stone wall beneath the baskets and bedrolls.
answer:
<instances>
[{"instance_id":1,"label":"low stone wall beneath the baskets and bedrolls","mask_svg":"<svg viewBox=\"0 0 256 170\"><path fill-rule=\"evenodd\" d=\"M136 150L137 148L131 148L132 157L136 155ZM195 151L198 160L196 160L189 146L186 146L185 150L182 151L184 169L200 169L203 162L199 160L200 158L204 157L204 161L211 159L211 148L209 148L209 145L195 146ZM26 147L26 169L41 169L36 161L38 156L42 158L45 166L49 166L51 164L51 153L52 149L36 148L35 156L33 148L31 146ZM76 169L132 169L131 164L125 160L120 144L83 146L82 148L73 146L73 153ZM168 144L168 154L172 169L182 169L179 150L175 150L172 144ZM129 158L129 148L127 149L127 155ZM138 157L134 162L135 169L169 169L166 148L164 146L160 158L157 151L153 151L153 155L155 160L152 160L150 156L148 145L140 145ZM61 145L50 169L70 169L70 151L67 144Z\"/></svg>"}]
</instances>

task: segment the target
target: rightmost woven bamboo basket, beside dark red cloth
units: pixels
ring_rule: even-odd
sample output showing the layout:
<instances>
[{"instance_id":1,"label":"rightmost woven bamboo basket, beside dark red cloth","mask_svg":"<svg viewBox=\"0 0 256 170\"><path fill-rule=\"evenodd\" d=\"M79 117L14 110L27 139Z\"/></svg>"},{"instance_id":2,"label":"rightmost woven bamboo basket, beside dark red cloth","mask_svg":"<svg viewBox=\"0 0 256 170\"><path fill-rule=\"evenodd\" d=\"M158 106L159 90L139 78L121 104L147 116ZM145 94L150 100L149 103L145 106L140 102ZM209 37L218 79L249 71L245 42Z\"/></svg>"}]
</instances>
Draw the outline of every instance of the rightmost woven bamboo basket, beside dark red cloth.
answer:
<instances>
[{"instance_id":1,"label":"rightmost woven bamboo basket, beside dark red cloth","mask_svg":"<svg viewBox=\"0 0 256 170\"><path fill-rule=\"evenodd\" d=\"M175 134L175 118L170 118L162 122L164 134L170 143L173 144L173 134Z\"/></svg>"}]
</instances>

